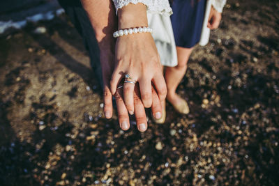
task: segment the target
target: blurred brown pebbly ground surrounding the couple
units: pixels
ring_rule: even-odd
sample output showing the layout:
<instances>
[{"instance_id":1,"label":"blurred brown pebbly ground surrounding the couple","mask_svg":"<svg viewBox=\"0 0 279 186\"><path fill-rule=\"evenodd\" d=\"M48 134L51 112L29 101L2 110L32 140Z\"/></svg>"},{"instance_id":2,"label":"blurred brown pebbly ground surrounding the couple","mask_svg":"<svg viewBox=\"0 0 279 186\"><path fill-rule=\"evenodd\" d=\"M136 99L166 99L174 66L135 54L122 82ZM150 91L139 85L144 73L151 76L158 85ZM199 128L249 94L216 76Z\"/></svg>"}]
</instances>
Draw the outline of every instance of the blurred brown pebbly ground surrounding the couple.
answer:
<instances>
[{"instance_id":1,"label":"blurred brown pebbly ground surrounding the couple","mask_svg":"<svg viewBox=\"0 0 279 186\"><path fill-rule=\"evenodd\" d=\"M1 185L278 185L278 9L228 1L179 85L190 114L143 133L104 118L65 15L1 35Z\"/></svg>"}]
</instances>

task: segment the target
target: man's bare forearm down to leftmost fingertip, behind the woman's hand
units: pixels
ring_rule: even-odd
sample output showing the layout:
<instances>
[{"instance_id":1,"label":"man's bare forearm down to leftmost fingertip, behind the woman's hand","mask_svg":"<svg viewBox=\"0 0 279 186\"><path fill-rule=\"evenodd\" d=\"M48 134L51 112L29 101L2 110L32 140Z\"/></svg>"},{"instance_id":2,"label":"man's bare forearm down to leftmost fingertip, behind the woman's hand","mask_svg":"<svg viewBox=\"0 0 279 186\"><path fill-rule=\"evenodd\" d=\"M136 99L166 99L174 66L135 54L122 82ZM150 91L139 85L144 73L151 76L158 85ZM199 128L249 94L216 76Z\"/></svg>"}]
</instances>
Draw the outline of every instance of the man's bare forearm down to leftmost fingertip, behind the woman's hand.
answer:
<instances>
[{"instance_id":1,"label":"man's bare forearm down to leftmost fingertip, behind the woman's hand","mask_svg":"<svg viewBox=\"0 0 279 186\"><path fill-rule=\"evenodd\" d=\"M110 77L114 68L114 46L115 41L112 33L117 28L117 18L112 2L110 0L81 0L86 11L96 40L100 48L100 63L103 75L103 98L104 113L106 118L112 117L112 93L110 92Z\"/></svg>"}]
</instances>

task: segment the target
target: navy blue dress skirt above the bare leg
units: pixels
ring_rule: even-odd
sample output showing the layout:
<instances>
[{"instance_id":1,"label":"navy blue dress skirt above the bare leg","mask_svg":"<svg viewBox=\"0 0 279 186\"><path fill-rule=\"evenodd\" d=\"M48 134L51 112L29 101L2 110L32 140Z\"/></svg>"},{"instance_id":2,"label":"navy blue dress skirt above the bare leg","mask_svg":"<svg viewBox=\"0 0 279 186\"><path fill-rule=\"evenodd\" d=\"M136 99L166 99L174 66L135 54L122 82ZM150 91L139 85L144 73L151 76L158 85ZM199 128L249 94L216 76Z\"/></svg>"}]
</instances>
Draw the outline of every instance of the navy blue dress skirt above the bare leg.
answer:
<instances>
[{"instance_id":1,"label":"navy blue dress skirt above the bare leg","mask_svg":"<svg viewBox=\"0 0 279 186\"><path fill-rule=\"evenodd\" d=\"M199 42L206 0L174 0L171 16L176 46L191 48Z\"/></svg>"}]
</instances>

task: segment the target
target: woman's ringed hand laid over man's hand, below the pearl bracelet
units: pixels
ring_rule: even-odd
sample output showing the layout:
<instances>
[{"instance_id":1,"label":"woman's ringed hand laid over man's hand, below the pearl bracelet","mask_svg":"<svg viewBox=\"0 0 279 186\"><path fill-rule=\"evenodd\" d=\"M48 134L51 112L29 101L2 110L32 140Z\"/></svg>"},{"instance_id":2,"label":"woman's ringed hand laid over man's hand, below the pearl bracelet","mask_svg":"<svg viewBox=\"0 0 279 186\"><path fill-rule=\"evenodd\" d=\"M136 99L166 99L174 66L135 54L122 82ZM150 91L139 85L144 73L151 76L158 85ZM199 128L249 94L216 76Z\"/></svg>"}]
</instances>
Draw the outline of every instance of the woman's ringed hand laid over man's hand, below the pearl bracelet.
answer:
<instances>
[{"instance_id":1,"label":"woman's ringed hand laid over man's hand, below the pearl bracelet","mask_svg":"<svg viewBox=\"0 0 279 186\"><path fill-rule=\"evenodd\" d=\"M110 59L113 59L112 52L110 56ZM153 116L160 118L162 116L160 102L165 100L167 94L160 57L151 34L141 33L118 38L114 60L107 60L107 63L110 61L114 63L112 65L102 63L105 117L112 117L112 95L114 95L121 129L129 129L129 114L135 114L137 128L144 132L147 129L144 108L151 107ZM109 68L114 68L114 71L111 72ZM137 83L123 82L127 74Z\"/></svg>"}]
</instances>

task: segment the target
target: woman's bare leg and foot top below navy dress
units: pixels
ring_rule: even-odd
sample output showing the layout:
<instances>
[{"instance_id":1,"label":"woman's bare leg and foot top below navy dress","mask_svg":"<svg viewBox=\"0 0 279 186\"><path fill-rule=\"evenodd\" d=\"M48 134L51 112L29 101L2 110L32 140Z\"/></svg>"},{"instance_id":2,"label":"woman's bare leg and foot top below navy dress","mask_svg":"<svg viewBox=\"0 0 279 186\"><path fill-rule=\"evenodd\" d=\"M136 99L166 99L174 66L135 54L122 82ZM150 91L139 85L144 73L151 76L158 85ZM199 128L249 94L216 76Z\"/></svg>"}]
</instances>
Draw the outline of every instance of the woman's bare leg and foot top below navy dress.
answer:
<instances>
[{"instance_id":1,"label":"woman's bare leg and foot top below navy dress","mask_svg":"<svg viewBox=\"0 0 279 186\"><path fill-rule=\"evenodd\" d=\"M180 98L179 95L176 94L176 88L179 86L181 79L183 79L186 70L187 63L190 57L192 48L184 48L184 47L176 47L177 57L178 57L178 65L175 67L167 67L165 71L165 81L167 84L167 100L172 105L178 105L183 102L183 99Z\"/></svg>"}]
</instances>

